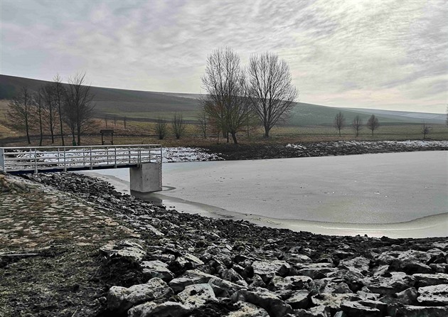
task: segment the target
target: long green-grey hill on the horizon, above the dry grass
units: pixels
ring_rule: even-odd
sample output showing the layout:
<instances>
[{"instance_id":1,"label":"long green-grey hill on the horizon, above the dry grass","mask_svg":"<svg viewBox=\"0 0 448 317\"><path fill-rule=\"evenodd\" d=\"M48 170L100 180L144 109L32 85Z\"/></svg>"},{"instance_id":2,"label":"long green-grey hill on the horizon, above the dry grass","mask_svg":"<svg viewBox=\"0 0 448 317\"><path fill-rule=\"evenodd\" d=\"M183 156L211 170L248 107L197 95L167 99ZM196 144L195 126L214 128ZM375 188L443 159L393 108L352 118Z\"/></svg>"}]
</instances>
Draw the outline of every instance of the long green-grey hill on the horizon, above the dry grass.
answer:
<instances>
[{"instance_id":1,"label":"long green-grey hill on the horizon, above the dry grass","mask_svg":"<svg viewBox=\"0 0 448 317\"><path fill-rule=\"evenodd\" d=\"M0 99L11 99L26 86L31 91L48 84L43 80L0 75ZM153 121L158 117L171 117L173 112L182 112L187 121L194 121L199 108L196 94L147 92L139 90L121 90L105 87L91 88L95 96L96 116L99 118L126 116L134 121ZM287 124L294 126L312 126L333 124L338 111L343 112L346 122L351 122L360 115L364 122L371 114L375 114L382 124L444 124L446 114L429 114L420 112L397 112L377 109L354 109L326 107L318 104L297 102Z\"/></svg>"}]
</instances>

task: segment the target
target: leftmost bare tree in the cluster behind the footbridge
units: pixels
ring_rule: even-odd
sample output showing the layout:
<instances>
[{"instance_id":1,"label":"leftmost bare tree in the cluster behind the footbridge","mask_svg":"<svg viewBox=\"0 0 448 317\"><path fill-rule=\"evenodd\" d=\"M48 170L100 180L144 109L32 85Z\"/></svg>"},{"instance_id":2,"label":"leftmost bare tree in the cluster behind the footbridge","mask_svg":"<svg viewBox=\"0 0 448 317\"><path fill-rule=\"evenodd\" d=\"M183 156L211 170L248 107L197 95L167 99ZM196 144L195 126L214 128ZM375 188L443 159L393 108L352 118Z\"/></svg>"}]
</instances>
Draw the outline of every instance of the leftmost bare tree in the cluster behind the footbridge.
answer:
<instances>
[{"instance_id":1,"label":"leftmost bare tree in the cluster behind the footbridge","mask_svg":"<svg viewBox=\"0 0 448 317\"><path fill-rule=\"evenodd\" d=\"M22 87L21 92L9 102L9 124L15 129L26 131L26 139L31 144L30 129L33 122L31 107L33 105L31 93L27 87Z\"/></svg>"}]
</instances>

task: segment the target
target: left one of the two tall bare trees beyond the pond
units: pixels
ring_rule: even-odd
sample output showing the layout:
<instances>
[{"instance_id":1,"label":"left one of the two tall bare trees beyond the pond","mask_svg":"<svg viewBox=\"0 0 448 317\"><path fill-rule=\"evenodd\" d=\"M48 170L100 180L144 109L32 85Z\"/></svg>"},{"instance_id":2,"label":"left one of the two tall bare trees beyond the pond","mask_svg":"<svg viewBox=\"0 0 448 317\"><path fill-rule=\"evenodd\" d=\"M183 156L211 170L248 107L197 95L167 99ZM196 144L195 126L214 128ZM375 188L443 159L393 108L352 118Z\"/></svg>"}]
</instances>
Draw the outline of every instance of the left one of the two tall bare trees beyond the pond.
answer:
<instances>
[{"instance_id":1,"label":"left one of the two tall bare trees beyond the pond","mask_svg":"<svg viewBox=\"0 0 448 317\"><path fill-rule=\"evenodd\" d=\"M245 127L249 107L238 54L231 48L210 53L202 83L207 95L200 102L208 118L219 126L223 136L229 139L230 134L238 144L236 134Z\"/></svg>"}]
</instances>

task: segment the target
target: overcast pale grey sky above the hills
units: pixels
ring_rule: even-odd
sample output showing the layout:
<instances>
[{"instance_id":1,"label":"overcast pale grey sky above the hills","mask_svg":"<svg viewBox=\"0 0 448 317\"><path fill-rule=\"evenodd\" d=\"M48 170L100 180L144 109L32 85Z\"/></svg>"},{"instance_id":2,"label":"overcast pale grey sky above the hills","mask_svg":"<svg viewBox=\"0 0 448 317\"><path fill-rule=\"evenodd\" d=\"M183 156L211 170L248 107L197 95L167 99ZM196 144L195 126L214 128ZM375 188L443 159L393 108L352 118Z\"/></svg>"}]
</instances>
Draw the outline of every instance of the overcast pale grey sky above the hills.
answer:
<instances>
[{"instance_id":1,"label":"overcast pale grey sky above the hills","mask_svg":"<svg viewBox=\"0 0 448 317\"><path fill-rule=\"evenodd\" d=\"M201 93L207 55L270 51L299 101L444 113L446 0L0 0L3 75Z\"/></svg>"}]
</instances>

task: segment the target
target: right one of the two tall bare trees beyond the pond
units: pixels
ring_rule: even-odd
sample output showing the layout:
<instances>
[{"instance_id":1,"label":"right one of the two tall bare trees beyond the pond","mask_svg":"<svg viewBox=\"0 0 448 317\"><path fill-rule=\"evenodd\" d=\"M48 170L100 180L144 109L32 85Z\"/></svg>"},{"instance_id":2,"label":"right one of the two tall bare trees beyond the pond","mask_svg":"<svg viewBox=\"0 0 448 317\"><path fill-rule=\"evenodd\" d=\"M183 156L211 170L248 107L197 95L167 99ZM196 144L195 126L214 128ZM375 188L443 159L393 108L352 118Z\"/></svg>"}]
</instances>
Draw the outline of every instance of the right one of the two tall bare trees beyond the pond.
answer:
<instances>
[{"instance_id":1,"label":"right one of the two tall bare trees beyond the pond","mask_svg":"<svg viewBox=\"0 0 448 317\"><path fill-rule=\"evenodd\" d=\"M250 58L248 96L257 116L265 127L265 137L280 119L287 117L298 92L292 85L289 66L272 53Z\"/></svg>"}]
</instances>

